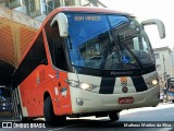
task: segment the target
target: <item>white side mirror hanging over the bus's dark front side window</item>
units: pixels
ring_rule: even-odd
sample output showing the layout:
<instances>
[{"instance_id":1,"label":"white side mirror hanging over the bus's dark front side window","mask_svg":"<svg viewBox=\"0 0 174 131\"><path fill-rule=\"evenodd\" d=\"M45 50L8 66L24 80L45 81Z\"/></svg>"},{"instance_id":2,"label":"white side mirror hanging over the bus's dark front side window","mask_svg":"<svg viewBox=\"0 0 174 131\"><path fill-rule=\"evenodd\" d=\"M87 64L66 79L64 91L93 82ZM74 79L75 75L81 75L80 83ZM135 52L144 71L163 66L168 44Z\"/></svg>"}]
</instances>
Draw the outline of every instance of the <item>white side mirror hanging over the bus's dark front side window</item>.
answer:
<instances>
[{"instance_id":1,"label":"white side mirror hanging over the bus's dark front side window","mask_svg":"<svg viewBox=\"0 0 174 131\"><path fill-rule=\"evenodd\" d=\"M67 37L69 36L69 31L67 31L67 27L69 27L69 24L67 24L67 17L64 13L58 13L50 26L54 26L54 25L59 25L59 33L60 33L60 36L61 37Z\"/></svg>"}]
</instances>

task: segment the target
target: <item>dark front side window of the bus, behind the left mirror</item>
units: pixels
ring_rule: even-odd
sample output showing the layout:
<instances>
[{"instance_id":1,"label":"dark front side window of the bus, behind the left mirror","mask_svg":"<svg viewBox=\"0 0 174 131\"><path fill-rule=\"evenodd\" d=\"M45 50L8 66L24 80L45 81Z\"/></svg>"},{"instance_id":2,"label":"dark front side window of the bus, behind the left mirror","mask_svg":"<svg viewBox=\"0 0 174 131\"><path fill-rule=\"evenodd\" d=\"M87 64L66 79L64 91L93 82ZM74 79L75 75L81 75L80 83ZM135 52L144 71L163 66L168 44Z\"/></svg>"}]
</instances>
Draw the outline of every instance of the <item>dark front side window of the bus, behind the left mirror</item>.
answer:
<instances>
[{"instance_id":1,"label":"dark front side window of the bus, behind the left mirror","mask_svg":"<svg viewBox=\"0 0 174 131\"><path fill-rule=\"evenodd\" d=\"M50 21L51 22L51 21ZM49 50L51 53L52 63L54 67L67 71L66 58L63 48L63 39L59 36L59 27L50 27L50 22L46 25L46 35Z\"/></svg>"}]
</instances>

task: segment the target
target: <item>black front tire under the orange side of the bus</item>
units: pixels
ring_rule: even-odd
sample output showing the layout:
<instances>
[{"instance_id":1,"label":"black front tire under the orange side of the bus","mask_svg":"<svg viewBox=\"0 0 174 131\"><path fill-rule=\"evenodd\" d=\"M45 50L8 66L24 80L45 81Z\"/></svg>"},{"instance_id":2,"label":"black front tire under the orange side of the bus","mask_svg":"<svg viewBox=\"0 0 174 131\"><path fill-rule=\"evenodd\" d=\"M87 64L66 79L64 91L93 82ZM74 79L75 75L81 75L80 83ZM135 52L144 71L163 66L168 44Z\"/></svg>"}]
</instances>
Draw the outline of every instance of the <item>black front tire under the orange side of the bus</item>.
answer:
<instances>
[{"instance_id":1,"label":"black front tire under the orange side of the bus","mask_svg":"<svg viewBox=\"0 0 174 131\"><path fill-rule=\"evenodd\" d=\"M45 100L44 116L45 116L46 122L51 126L55 126L58 123L62 124L66 120L66 116L55 116L54 115L50 96L47 97Z\"/></svg>"}]
</instances>

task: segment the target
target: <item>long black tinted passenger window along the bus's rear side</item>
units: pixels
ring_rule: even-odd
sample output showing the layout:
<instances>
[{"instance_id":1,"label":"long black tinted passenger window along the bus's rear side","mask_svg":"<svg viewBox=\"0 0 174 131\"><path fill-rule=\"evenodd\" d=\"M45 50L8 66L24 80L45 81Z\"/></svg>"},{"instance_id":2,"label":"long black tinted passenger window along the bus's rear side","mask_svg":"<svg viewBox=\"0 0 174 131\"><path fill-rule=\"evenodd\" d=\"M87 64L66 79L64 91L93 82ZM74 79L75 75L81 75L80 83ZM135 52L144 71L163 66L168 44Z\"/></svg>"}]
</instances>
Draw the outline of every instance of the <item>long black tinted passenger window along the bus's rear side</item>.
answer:
<instances>
[{"instance_id":1,"label":"long black tinted passenger window along the bus's rear side","mask_svg":"<svg viewBox=\"0 0 174 131\"><path fill-rule=\"evenodd\" d=\"M22 83L22 81L24 81L40 64L47 64L42 33L39 34L36 41L16 69L13 75L13 86L17 86Z\"/></svg>"}]
</instances>

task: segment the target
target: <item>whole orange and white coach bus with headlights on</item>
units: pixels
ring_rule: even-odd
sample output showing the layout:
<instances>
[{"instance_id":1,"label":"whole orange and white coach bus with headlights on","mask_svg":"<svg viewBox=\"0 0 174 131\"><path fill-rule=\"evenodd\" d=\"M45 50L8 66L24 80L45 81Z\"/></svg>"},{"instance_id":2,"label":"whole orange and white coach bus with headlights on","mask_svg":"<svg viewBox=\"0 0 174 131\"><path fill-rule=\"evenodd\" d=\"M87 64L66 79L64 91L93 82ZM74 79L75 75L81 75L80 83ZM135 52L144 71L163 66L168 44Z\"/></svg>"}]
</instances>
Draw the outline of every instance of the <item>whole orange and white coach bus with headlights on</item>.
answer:
<instances>
[{"instance_id":1,"label":"whole orange and white coach bus with headlights on","mask_svg":"<svg viewBox=\"0 0 174 131\"><path fill-rule=\"evenodd\" d=\"M13 107L21 120L109 116L157 106L153 51L135 16L100 8L59 8L50 13L13 74Z\"/></svg>"}]
</instances>

